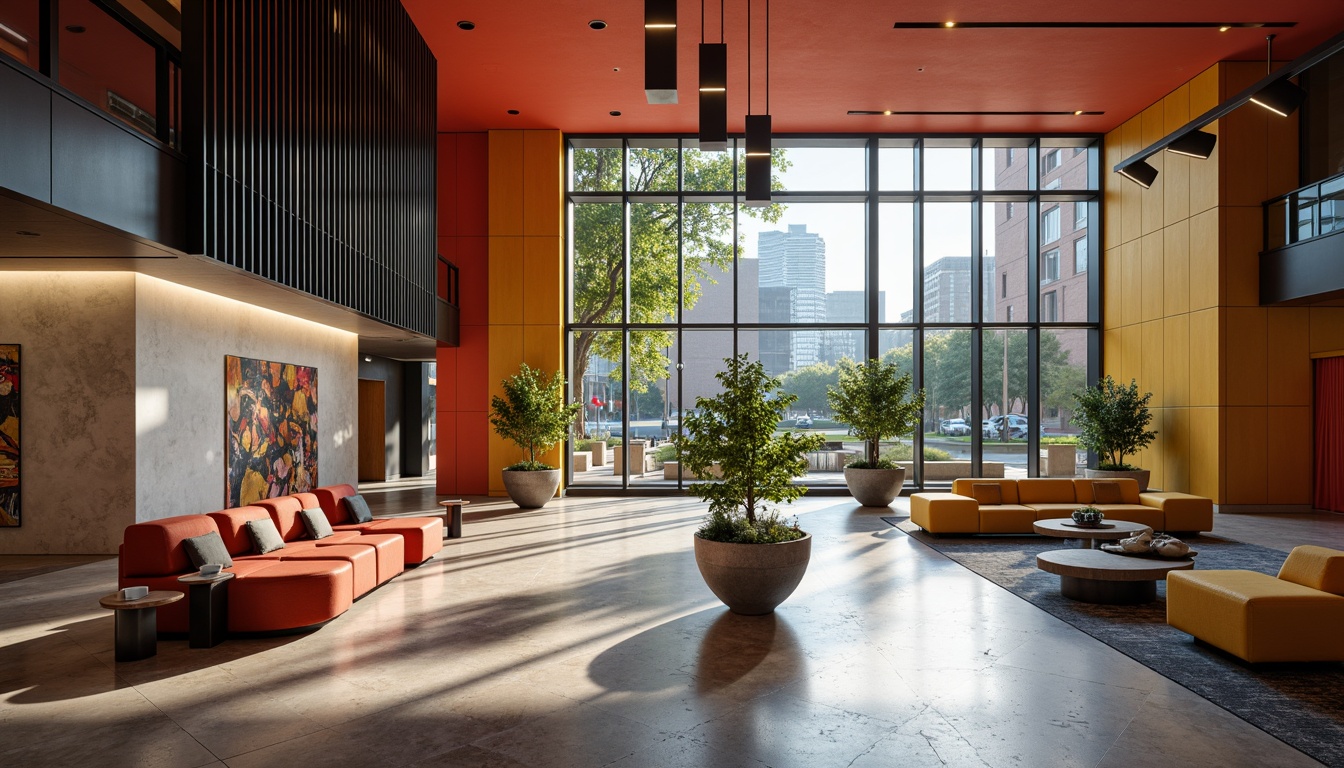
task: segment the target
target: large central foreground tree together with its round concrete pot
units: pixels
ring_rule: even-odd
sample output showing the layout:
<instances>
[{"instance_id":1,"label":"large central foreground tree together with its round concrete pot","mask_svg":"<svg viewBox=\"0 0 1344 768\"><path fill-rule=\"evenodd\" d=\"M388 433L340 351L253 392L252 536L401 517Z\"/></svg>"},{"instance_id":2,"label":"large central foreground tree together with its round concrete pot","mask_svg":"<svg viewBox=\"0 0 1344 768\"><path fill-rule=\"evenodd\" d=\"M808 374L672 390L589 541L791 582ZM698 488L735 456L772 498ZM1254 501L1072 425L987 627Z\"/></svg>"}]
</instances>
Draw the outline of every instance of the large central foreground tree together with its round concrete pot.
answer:
<instances>
[{"instance_id":1,"label":"large central foreground tree together with its round concrete pot","mask_svg":"<svg viewBox=\"0 0 1344 768\"><path fill-rule=\"evenodd\" d=\"M802 581L812 537L789 525L773 504L793 503L806 492L793 477L808 471L808 451L820 434L775 428L796 395L780 389L761 362L726 358L715 374L723 391L696 398L676 437L683 467L695 477L715 471L722 480L695 483L691 492L710 503L695 533L695 562L710 589L734 613L770 613ZM718 465L715 468L715 465Z\"/></svg>"}]
</instances>

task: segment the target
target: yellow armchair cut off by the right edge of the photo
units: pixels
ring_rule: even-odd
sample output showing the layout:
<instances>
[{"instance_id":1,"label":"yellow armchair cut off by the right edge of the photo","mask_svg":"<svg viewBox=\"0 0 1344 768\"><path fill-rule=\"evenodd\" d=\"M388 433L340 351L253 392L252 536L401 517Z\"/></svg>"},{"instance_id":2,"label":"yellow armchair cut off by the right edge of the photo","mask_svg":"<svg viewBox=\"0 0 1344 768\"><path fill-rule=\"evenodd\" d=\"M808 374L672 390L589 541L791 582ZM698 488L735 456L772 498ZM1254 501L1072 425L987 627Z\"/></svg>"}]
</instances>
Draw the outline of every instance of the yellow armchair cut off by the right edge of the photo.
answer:
<instances>
[{"instance_id":1,"label":"yellow armchair cut off by the right edge of the photo","mask_svg":"<svg viewBox=\"0 0 1344 768\"><path fill-rule=\"evenodd\" d=\"M1344 551L1296 547L1278 578L1173 570L1167 623L1247 662L1344 662Z\"/></svg>"}]
</instances>

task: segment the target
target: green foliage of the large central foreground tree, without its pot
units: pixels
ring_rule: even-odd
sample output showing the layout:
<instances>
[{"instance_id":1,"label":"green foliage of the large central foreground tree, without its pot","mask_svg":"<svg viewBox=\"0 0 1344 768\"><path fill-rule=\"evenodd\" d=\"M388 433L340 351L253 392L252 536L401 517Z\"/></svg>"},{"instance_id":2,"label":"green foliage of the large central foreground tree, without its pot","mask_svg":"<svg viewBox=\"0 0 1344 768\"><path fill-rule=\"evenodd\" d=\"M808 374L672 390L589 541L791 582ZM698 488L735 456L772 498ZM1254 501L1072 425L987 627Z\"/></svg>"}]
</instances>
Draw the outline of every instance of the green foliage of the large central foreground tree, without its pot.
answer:
<instances>
[{"instance_id":1,"label":"green foliage of the large central foreground tree, without its pot","mask_svg":"<svg viewBox=\"0 0 1344 768\"><path fill-rule=\"evenodd\" d=\"M710 514L696 535L730 543L778 543L802 538L771 504L793 503L806 492L793 477L808 471L808 451L825 444L820 434L782 432L775 426L796 401L766 375L759 360L747 355L724 358L715 374L723 390L698 397L695 413L676 437L683 468L696 477L719 465L723 479L694 483L691 494L710 503Z\"/></svg>"}]
</instances>

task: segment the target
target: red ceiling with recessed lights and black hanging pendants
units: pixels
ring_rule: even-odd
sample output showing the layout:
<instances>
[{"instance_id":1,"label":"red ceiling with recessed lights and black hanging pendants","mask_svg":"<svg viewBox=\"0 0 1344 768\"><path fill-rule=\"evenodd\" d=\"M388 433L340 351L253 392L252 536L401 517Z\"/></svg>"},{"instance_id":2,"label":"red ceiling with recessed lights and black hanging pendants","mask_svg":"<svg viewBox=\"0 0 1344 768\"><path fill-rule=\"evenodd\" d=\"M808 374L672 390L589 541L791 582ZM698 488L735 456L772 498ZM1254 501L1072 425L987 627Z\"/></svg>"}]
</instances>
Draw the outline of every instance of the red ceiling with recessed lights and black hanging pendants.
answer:
<instances>
[{"instance_id":1,"label":"red ceiling with recessed lights and black hanging pendants","mask_svg":"<svg viewBox=\"0 0 1344 768\"><path fill-rule=\"evenodd\" d=\"M402 0L438 56L441 130L559 128L573 133L694 133L700 4L679 3L680 104L644 97L638 0ZM754 47L763 0L753 0ZM710 0L706 42L719 40ZM770 7L774 132L1105 132L1210 65L1290 61L1344 30L1322 0L775 0ZM727 1L728 129L742 130L747 0ZM473 31L458 20L476 23ZM607 28L587 23L602 19ZM900 22L1296 22L1281 30L892 30ZM763 54L753 56L763 112ZM923 71L919 71L922 67ZM520 110L511 116L509 109ZM1066 117L849 117L849 109L1066 112ZM620 117L609 112L620 110Z\"/></svg>"}]
</instances>

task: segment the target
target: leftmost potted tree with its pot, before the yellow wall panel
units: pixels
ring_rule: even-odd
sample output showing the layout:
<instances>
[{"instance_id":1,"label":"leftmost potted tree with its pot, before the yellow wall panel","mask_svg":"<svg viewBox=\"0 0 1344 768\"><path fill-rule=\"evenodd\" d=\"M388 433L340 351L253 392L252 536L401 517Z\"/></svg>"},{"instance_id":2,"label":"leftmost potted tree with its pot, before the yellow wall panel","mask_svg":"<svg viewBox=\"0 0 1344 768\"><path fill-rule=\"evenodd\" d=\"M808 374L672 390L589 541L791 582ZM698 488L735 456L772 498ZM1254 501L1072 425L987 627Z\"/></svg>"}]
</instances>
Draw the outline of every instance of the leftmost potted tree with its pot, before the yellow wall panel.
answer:
<instances>
[{"instance_id":1,"label":"leftmost potted tree with its pot, before the yellow wall panel","mask_svg":"<svg viewBox=\"0 0 1344 768\"><path fill-rule=\"evenodd\" d=\"M564 402L559 371L547 377L527 363L504 379L503 387L504 397L491 398L491 425L527 452L527 461L504 468L504 488L519 507L543 507L560 487L560 471L538 461L536 455L564 440L582 405Z\"/></svg>"}]
</instances>

